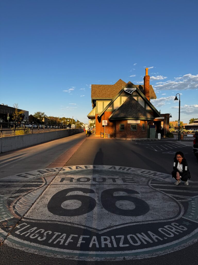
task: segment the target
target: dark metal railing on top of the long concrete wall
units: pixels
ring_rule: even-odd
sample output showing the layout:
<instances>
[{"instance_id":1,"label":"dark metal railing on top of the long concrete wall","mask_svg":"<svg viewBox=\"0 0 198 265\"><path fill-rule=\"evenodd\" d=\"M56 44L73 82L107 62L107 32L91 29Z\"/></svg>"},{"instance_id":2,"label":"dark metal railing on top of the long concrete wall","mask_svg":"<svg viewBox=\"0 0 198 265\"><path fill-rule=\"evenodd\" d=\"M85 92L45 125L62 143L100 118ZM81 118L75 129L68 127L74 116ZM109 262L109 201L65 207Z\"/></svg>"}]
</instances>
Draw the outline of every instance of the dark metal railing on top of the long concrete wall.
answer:
<instances>
[{"instance_id":1,"label":"dark metal railing on top of the long concrete wall","mask_svg":"<svg viewBox=\"0 0 198 265\"><path fill-rule=\"evenodd\" d=\"M25 135L33 133L44 133L49 131L65 130L65 129L78 129L80 126L66 125L66 124L35 124L35 123L0 123L0 137Z\"/></svg>"}]
</instances>

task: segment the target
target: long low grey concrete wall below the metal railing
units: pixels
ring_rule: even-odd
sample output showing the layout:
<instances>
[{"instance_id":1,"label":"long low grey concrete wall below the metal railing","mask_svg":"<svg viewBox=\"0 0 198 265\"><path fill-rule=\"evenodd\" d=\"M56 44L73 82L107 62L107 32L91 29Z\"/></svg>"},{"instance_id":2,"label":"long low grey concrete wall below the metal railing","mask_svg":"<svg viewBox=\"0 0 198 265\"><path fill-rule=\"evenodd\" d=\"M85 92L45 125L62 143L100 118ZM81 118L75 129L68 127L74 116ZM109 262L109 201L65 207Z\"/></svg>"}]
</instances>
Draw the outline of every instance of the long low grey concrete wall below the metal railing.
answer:
<instances>
[{"instance_id":1,"label":"long low grey concrete wall below the metal railing","mask_svg":"<svg viewBox=\"0 0 198 265\"><path fill-rule=\"evenodd\" d=\"M0 138L0 153L40 144L55 139L67 137L73 134L82 133L83 129L66 129L60 131L50 131L45 133L17 135Z\"/></svg>"}]
</instances>

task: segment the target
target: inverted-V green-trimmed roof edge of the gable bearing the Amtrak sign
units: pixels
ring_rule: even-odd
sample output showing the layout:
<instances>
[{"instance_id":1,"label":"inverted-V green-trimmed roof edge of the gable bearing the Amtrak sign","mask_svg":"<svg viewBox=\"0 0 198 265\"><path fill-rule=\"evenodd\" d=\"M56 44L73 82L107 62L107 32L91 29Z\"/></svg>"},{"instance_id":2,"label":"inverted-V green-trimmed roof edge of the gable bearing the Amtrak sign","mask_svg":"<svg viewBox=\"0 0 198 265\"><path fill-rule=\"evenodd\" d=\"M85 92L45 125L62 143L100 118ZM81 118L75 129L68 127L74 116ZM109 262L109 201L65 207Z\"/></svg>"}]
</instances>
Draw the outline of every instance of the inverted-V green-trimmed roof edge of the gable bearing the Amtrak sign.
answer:
<instances>
[{"instance_id":1,"label":"inverted-V green-trimmed roof edge of the gable bearing the Amtrak sign","mask_svg":"<svg viewBox=\"0 0 198 265\"><path fill-rule=\"evenodd\" d=\"M111 104L116 100L116 98L124 91L125 87L134 87L134 84L130 81L119 91L119 93L107 104L107 106L101 111L98 115L98 118L102 116L102 114L111 106ZM157 111L157 109L153 106L153 104L144 96L144 94L137 88L136 92L141 96L141 98L149 105L154 113L154 117L161 117L161 114ZM127 94L127 93L126 93ZM133 94L131 95L133 97ZM138 103L138 102L137 102ZM139 103L138 103L139 104ZM140 105L140 104L139 104ZM120 106L121 107L121 106ZM153 118L154 118L153 117Z\"/></svg>"}]
</instances>

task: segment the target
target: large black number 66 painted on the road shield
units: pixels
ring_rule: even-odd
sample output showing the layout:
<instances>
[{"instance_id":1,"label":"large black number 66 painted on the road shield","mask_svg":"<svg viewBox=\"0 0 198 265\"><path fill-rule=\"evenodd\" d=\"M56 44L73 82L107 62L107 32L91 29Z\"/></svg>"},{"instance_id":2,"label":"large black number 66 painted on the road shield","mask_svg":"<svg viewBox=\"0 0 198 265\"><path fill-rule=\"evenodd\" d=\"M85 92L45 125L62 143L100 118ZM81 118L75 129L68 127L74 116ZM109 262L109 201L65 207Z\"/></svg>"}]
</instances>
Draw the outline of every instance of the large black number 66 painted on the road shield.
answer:
<instances>
[{"instance_id":1,"label":"large black number 66 painted on the road shield","mask_svg":"<svg viewBox=\"0 0 198 265\"><path fill-rule=\"evenodd\" d=\"M95 193L93 189L88 188L68 188L54 194L48 202L48 210L52 214L60 216L78 216L87 214L96 207L96 200L86 195L68 195L69 192L81 191L83 193ZM122 216L140 216L148 213L149 205L142 199L120 195L114 196L114 192L126 192L128 194L139 194L139 192L132 189L113 188L106 189L101 193L101 203L105 210L110 213L122 215ZM61 205L65 201L78 200L81 202L81 206L77 209L64 209ZM130 201L135 204L134 209L125 210L116 206L117 201Z\"/></svg>"}]
</instances>

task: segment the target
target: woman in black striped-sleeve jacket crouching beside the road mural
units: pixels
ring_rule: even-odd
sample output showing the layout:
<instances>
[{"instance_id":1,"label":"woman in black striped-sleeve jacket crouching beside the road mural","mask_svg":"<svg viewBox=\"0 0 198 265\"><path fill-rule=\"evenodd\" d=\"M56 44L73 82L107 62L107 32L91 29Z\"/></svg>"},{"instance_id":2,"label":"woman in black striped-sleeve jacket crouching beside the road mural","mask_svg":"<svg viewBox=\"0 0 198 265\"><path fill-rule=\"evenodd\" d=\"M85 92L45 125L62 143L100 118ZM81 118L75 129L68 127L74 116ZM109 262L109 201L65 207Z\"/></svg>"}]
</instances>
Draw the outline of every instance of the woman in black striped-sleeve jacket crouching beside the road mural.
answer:
<instances>
[{"instance_id":1,"label":"woman in black striped-sleeve jacket crouching beside the road mural","mask_svg":"<svg viewBox=\"0 0 198 265\"><path fill-rule=\"evenodd\" d=\"M191 178L188 163L181 151L175 153L172 178L177 180L175 185L178 185L182 180L186 186L188 186L188 179Z\"/></svg>"}]
</instances>

